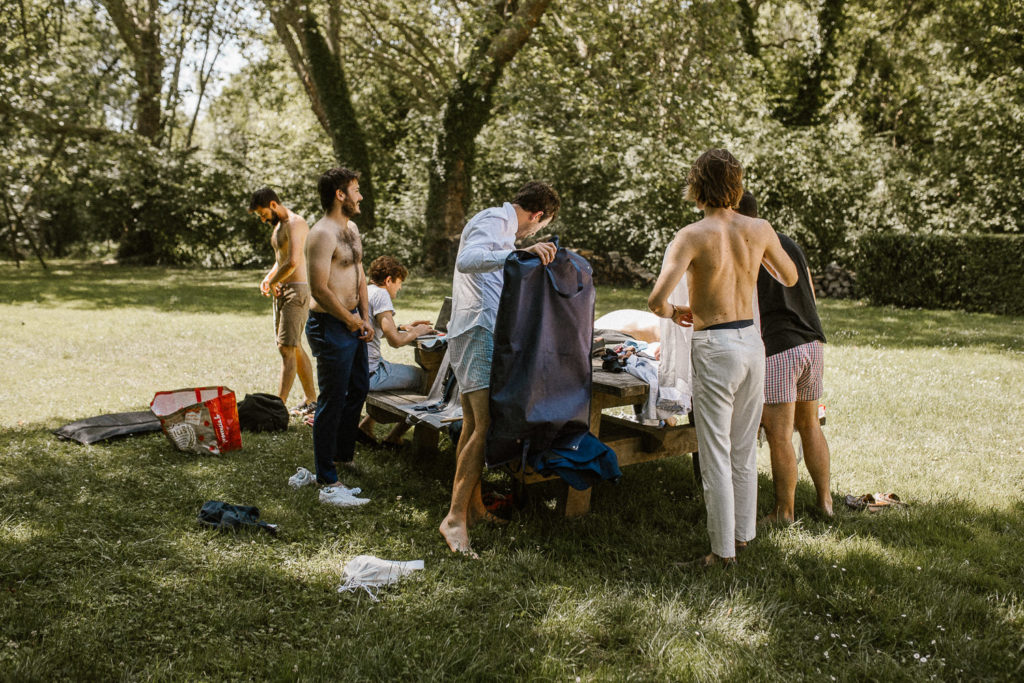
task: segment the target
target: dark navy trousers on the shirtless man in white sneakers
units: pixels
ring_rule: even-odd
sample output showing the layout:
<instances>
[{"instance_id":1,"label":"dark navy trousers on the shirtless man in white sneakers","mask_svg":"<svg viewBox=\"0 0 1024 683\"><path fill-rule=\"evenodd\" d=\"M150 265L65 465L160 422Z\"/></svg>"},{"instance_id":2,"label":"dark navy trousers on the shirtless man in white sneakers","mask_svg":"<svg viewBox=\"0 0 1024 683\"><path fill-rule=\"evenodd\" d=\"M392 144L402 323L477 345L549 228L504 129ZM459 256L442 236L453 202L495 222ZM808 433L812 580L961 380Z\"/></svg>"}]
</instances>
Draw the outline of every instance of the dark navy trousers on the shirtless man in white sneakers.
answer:
<instances>
[{"instance_id":1,"label":"dark navy trousers on the shirtless man in white sneakers","mask_svg":"<svg viewBox=\"0 0 1024 683\"><path fill-rule=\"evenodd\" d=\"M331 484L338 480L334 464L355 457L355 430L370 389L367 343L334 315L315 311L309 311L306 339L316 358L319 382L313 417L316 479Z\"/></svg>"}]
</instances>

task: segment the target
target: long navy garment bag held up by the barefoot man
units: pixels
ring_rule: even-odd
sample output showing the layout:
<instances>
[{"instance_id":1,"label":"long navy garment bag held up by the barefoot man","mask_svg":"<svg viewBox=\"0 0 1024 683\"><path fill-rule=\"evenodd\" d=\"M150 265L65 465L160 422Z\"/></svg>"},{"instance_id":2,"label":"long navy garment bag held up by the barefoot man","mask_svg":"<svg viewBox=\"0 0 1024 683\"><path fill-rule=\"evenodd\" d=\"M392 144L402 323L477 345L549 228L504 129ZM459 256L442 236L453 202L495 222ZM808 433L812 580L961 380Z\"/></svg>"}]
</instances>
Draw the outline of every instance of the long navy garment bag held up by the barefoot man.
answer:
<instances>
[{"instance_id":1,"label":"long navy garment bag held up by the barefoot man","mask_svg":"<svg viewBox=\"0 0 1024 683\"><path fill-rule=\"evenodd\" d=\"M590 429L590 263L563 248L547 266L515 251L504 274L490 367L488 467L571 446Z\"/></svg>"}]
</instances>

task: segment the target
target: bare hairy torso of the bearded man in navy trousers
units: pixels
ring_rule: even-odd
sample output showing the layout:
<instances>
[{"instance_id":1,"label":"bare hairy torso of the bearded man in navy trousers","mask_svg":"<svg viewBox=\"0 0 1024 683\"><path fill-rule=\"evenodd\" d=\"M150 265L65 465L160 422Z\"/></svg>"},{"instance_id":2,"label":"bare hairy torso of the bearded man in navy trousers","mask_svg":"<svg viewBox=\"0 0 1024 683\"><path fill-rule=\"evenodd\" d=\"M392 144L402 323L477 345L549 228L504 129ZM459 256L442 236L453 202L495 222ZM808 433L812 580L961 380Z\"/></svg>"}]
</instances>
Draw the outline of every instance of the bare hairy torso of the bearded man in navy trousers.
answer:
<instances>
[{"instance_id":1,"label":"bare hairy torso of the bearded man in navy trousers","mask_svg":"<svg viewBox=\"0 0 1024 683\"><path fill-rule=\"evenodd\" d=\"M359 303L359 276L362 261L362 240L352 221L342 225L325 216L309 231L306 243L309 262L309 283L326 278L328 290L334 294L345 310L352 310ZM316 288L310 310L330 312L329 306L316 300Z\"/></svg>"}]
</instances>

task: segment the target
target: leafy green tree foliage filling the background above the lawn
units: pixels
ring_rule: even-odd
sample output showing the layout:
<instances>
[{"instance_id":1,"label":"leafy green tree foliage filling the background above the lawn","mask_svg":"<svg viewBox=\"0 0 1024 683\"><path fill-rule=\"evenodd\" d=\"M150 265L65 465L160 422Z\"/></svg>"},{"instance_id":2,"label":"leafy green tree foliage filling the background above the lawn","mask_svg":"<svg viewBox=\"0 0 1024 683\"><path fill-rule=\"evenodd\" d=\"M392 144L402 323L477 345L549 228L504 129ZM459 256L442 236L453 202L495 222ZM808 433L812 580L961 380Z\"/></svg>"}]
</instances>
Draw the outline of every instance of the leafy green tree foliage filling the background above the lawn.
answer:
<instances>
[{"instance_id":1,"label":"leafy green tree foliage filling the background above the lawn","mask_svg":"<svg viewBox=\"0 0 1024 683\"><path fill-rule=\"evenodd\" d=\"M234 18L226 0L168 5L164 128L147 146L131 134L137 75L106 13L84 0L0 2L12 10L0 18L5 253L108 245L153 262L248 262L267 256L240 208L253 188L318 211L315 177L345 139L325 132L268 20L287 3L240 5ZM468 0L295 7L345 66L373 160L368 256L422 262L446 93L497 14ZM178 50L183 36L246 46L207 108L185 106L195 86L174 76L201 61ZM736 154L763 215L816 267L850 265L867 233L1024 227L1024 8L1013 0L553 3L488 96L489 120L463 145L475 155L467 214L544 178L565 200L552 229L567 244L651 267L696 217L685 178L709 146Z\"/></svg>"}]
</instances>

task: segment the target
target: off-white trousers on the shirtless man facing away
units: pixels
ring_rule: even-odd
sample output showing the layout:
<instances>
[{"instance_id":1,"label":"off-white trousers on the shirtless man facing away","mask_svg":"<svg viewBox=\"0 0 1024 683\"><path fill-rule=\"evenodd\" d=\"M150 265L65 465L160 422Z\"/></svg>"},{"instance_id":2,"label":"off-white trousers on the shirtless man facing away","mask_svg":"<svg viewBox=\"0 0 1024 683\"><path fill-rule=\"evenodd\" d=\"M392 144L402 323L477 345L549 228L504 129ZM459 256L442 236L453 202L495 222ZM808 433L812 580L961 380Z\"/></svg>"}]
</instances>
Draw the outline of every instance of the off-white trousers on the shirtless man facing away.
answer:
<instances>
[{"instance_id":1,"label":"off-white trousers on the shirtless man facing away","mask_svg":"<svg viewBox=\"0 0 1024 683\"><path fill-rule=\"evenodd\" d=\"M690 355L711 551L735 557L735 542L751 541L756 535L765 347L753 325L697 330Z\"/></svg>"}]
</instances>

